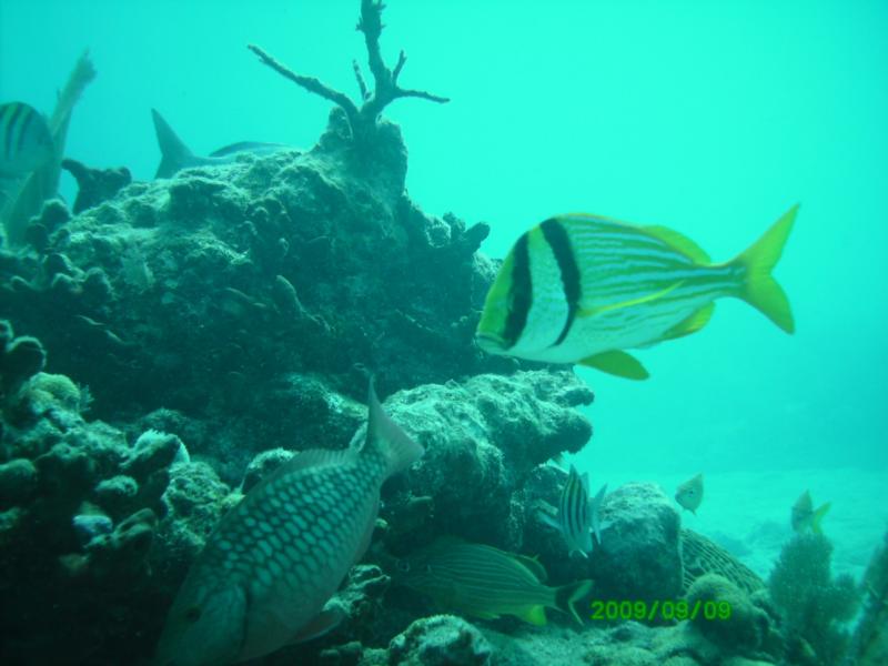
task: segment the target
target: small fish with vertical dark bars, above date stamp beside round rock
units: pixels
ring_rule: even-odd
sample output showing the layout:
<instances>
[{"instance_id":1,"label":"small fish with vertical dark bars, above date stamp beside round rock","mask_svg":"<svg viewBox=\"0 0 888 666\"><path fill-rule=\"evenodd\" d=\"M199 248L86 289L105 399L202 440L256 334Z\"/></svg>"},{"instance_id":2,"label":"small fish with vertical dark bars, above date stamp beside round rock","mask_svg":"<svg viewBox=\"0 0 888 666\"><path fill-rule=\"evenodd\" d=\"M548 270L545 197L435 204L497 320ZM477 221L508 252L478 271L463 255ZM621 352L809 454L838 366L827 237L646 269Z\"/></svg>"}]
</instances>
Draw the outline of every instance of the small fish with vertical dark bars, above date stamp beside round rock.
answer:
<instances>
[{"instance_id":1,"label":"small fish with vertical dark bars, above date stamp beside round rock","mask_svg":"<svg viewBox=\"0 0 888 666\"><path fill-rule=\"evenodd\" d=\"M587 557L592 552L592 535L598 544L602 543L602 503L604 502L607 484L603 485L595 497L589 498L589 476L578 474L576 467L571 465L567 482L562 488L558 500L558 514L555 518L545 513L539 513L541 519L554 527L567 542L567 556L579 553Z\"/></svg>"}]
</instances>

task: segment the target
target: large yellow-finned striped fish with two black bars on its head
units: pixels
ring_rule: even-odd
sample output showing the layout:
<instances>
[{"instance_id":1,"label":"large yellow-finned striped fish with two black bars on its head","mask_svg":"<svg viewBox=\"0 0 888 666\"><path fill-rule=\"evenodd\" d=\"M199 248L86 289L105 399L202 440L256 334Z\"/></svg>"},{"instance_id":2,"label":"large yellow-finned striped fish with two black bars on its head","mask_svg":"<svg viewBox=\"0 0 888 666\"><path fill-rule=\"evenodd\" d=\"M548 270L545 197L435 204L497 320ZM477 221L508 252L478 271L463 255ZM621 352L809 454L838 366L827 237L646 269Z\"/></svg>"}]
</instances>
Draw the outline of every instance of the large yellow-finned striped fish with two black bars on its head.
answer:
<instances>
[{"instance_id":1,"label":"large yellow-finned striped fish with two black bars on its head","mask_svg":"<svg viewBox=\"0 0 888 666\"><path fill-rule=\"evenodd\" d=\"M492 354L644 380L647 371L624 350L699 331L723 296L743 299L791 333L789 302L770 273L797 210L722 264L663 226L582 214L546 220L518 239L500 268L477 343Z\"/></svg>"}]
</instances>

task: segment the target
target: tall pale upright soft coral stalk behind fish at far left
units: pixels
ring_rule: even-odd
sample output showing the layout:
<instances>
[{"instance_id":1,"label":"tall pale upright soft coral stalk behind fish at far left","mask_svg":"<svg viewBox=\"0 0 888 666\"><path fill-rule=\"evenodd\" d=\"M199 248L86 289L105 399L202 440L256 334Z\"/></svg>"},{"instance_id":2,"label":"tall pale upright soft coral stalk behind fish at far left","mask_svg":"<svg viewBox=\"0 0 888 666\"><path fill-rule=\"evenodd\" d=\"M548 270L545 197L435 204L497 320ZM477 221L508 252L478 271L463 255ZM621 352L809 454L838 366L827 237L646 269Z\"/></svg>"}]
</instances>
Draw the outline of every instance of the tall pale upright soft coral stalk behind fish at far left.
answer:
<instances>
[{"instance_id":1,"label":"tall pale upright soft coral stalk behind fish at far left","mask_svg":"<svg viewBox=\"0 0 888 666\"><path fill-rule=\"evenodd\" d=\"M95 68L89 52L83 52L68 77L68 82L59 93L52 115L47 120L47 127L52 137L50 157L33 171L22 173L21 178L7 189L0 205L0 222L2 222L6 240L11 245L24 243L26 229L30 219L40 214L43 202L58 194L59 175L71 113L83 90L94 78Z\"/></svg>"}]
</instances>

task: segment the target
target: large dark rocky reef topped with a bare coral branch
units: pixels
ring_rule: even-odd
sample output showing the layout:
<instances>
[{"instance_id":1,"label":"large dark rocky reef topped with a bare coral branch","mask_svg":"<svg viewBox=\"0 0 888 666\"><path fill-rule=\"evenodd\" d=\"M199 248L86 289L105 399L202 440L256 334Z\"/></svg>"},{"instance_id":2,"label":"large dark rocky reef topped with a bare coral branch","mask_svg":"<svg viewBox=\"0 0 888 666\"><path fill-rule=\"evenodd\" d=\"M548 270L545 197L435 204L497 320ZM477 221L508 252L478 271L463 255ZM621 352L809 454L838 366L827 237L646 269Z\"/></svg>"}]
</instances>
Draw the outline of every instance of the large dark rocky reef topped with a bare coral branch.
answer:
<instances>
[{"instance_id":1,"label":"large dark rocky reef topped with a bare coral branch","mask_svg":"<svg viewBox=\"0 0 888 666\"><path fill-rule=\"evenodd\" d=\"M478 252L488 230L427 215L405 192L406 148L379 115L403 97L445 100L401 88L403 53L393 69L382 62L381 11L363 0L375 88L359 73L360 103L252 47L335 103L311 150L134 183L68 162L88 188L75 210L46 202L27 243L0 250L0 662L151 663L222 516L300 451L360 437L369 374L426 453L383 488L369 553L329 602L342 624L256 663L838 658L806 633L811 608L850 604L849 584L829 577L828 544L794 542L766 588L682 529L654 484L606 496L588 558L568 557L541 521L566 476L547 461L588 444L582 407L594 395L569 370L474 345L497 268ZM438 535L536 557L552 585L591 578L599 602L730 613L598 618L589 606L582 626L566 614L547 626L456 617L389 575L393 557ZM884 604L885 576L872 579ZM816 633L845 640L842 608Z\"/></svg>"}]
</instances>

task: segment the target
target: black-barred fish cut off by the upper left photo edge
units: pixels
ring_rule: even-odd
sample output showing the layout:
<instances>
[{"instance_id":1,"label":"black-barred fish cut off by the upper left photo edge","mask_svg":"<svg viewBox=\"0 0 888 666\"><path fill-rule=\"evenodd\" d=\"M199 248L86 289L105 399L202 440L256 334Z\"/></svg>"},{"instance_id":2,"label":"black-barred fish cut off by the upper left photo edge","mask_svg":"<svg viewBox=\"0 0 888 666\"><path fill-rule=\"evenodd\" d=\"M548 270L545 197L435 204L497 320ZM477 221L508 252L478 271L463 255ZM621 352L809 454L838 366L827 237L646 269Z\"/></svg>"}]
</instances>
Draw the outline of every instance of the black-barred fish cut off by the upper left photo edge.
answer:
<instances>
[{"instance_id":1,"label":"black-barred fish cut off by the upper left photo edge","mask_svg":"<svg viewBox=\"0 0 888 666\"><path fill-rule=\"evenodd\" d=\"M0 104L0 178L16 179L52 158L52 134L46 119L23 102Z\"/></svg>"}]
</instances>

